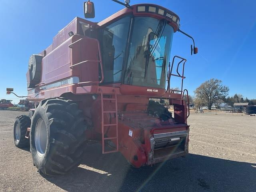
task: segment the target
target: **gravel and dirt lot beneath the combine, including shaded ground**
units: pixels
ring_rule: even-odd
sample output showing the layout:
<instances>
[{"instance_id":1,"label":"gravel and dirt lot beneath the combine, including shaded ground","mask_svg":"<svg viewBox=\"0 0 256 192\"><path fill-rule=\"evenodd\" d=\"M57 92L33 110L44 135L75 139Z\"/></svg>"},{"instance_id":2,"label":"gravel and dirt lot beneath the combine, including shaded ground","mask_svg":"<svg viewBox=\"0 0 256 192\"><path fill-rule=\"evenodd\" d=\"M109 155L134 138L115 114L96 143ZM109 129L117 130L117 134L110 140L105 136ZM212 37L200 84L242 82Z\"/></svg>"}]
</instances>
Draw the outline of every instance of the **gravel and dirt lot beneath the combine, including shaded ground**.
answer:
<instances>
[{"instance_id":1,"label":"gravel and dirt lot beneath the combine, including shaded ground","mask_svg":"<svg viewBox=\"0 0 256 192\"><path fill-rule=\"evenodd\" d=\"M91 144L70 174L44 178L29 149L13 143L13 122L23 113L0 111L0 191L256 191L256 116L192 113L186 158L134 169Z\"/></svg>"}]
</instances>

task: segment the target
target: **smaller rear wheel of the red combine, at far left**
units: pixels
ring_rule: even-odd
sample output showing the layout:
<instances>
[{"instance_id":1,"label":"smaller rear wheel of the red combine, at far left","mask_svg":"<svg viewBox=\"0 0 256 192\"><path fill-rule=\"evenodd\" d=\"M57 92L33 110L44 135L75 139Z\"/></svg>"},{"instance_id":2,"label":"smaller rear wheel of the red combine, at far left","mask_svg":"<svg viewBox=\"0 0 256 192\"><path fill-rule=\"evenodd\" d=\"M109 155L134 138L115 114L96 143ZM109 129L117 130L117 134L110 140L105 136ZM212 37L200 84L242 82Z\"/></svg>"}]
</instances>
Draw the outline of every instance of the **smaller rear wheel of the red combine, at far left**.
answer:
<instances>
[{"instance_id":1,"label":"smaller rear wheel of the red combine, at far left","mask_svg":"<svg viewBox=\"0 0 256 192\"><path fill-rule=\"evenodd\" d=\"M30 127L31 120L26 115L16 117L13 128L14 144L18 148L29 147L29 139L25 138L27 128Z\"/></svg>"}]
</instances>

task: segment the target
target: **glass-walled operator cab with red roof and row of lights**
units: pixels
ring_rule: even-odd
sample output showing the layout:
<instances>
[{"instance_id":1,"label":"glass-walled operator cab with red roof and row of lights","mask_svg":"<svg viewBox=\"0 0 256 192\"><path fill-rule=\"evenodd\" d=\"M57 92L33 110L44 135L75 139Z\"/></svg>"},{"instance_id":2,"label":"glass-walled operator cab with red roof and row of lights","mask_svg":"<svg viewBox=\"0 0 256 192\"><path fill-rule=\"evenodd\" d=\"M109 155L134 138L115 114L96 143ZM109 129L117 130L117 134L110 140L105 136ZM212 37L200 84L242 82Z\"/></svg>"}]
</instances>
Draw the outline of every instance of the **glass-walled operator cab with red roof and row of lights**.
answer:
<instances>
[{"instance_id":1,"label":"glass-walled operator cab with red roof and row of lights","mask_svg":"<svg viewBox=\"0 0 256 192\"><path fill-rule=\"evenodd\" d=\"M85 16L86 9L92 9L91 2L87 3ZM174 32L182 32L180 18L155 4L123 5L126 8L96 26L104 72L102 84L118 86L124 94L137 94L126 91L135 88L140 90L138 94L162 95L166 91L172 37ZM94 14L94 7L91 12ZM193 48L196 54L197 48L191 46L191 51Z\"/></svg>"}]
</instances>

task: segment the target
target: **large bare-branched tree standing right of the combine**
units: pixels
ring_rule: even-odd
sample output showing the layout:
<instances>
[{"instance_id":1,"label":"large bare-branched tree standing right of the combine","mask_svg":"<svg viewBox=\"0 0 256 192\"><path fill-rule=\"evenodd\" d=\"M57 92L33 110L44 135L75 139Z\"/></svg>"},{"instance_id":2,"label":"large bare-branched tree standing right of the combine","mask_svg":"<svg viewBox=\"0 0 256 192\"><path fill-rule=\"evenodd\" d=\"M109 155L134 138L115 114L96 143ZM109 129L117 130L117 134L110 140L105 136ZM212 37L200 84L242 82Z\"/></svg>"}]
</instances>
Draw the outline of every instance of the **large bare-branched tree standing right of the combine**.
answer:
<instances>
[{"instance_id":1,"label":"large bare-branched tree standing right of the combine","mask_svg":"<svg viewBox=\"0 0 256 192\"><path fill-rule=\"evenodd\" d=\"M202 83L194 91L196 98L201 100L202 103L208 105L208 109L212 110L212 104L219 99L224 99L228 95L229 88L222 85L222 81L218 79L210 79Z\"/></svg>"}]
</instances>

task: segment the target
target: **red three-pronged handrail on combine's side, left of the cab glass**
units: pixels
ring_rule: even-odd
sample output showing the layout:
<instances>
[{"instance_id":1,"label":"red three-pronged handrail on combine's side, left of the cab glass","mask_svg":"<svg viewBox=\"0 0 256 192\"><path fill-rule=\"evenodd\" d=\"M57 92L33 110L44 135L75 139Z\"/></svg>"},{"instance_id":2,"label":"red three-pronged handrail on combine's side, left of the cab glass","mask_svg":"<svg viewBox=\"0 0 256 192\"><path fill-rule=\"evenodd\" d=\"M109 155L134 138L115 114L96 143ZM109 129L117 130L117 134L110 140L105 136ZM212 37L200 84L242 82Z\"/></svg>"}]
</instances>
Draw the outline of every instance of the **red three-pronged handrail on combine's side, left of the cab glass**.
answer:
<instances>
[{"instance_id":1,"label":"red three-pronged handrail on combine's side, left of the cab glass","mask_svg":"<svg viewBox=\"0 0 256 192\"><path fill-rule=\"evenodd\" d=\"M79 40L71 43L68 47L69 48L72 48L72 46L78 42L80 42L82 39L84 38L80 38ZM80 63L77 63L77 64L74 64L72 66L70 66L71 69L73 69L73 67L76 67L78 65L81 65L81 64L84 64L86 62L97 62L97 63L100 63L100 72L101 72L101 80L100 81L87 81L87 82L79 82L78 84L86 84L86 83L102 83L104 81L104 72L103 72L103 66L102 66L102 58L101 58L101 52L100 52L100 43L97 39L94 39L94 38L90 38L90 39L93 39L97 42L97 46L98 46L98 53L99 53L99 60L86 60L86 61L82 61Z\"/></svg>"}]
</instances>

